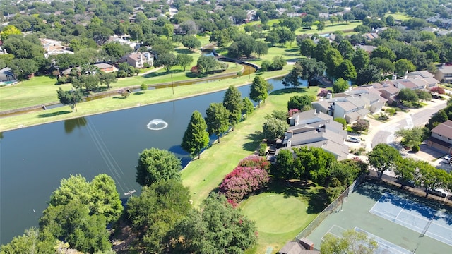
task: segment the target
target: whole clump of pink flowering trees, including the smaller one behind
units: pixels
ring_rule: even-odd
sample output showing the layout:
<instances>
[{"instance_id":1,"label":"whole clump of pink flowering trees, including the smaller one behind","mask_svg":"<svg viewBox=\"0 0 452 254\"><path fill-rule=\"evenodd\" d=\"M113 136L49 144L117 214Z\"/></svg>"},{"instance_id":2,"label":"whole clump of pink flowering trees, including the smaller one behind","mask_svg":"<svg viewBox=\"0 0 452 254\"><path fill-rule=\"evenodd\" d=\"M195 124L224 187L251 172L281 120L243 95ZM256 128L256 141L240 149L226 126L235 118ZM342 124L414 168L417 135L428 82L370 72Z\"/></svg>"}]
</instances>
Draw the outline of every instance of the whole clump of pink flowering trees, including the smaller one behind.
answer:
<instances>
[{"instance_id":1,"label":"whole clump of pink flowering trees, including the smaller one behind","mask_svg":"<svg viewBox=\"0 0 452 254\"><path fill-rule=\"evenodd\" d=\"M239 165L225 176L220 183L220 193L237 206L247 195L266 186L269 181L270 162L265 158L251 155L242 159Z\"/></svg>"}]
</instances>

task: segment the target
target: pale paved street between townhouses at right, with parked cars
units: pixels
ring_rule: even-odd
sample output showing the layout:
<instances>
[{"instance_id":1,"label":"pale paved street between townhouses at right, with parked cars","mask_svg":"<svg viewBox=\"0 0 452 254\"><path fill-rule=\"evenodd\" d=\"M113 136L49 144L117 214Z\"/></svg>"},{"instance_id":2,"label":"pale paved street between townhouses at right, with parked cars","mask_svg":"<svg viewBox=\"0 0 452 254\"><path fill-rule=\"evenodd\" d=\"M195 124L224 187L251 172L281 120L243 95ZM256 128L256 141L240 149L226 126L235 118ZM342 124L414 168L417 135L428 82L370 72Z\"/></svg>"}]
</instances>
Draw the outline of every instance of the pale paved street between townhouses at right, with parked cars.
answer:
<instances>
[{"instance_id":1,"label":"pale paved street between townhouses at right, with parked cars","mask_svg":"<svg viewBox=\"0 0 452 254\"><path fill-rule=\"evenodd\" d=\"M371 123L371 126L377 128L378 131L374 133L371 138L371 147L379 143L391 144L394 142L394 133L400 128L412 128L413 126L424 126L429 121L432 114L435 114L440 109L446 107L446 101L435 100L422 109L412 109L408 113L400 113L393 116L391 121L387 123ZM375 121L378 122L378 121Z\"/></svg>"}]
</instances>

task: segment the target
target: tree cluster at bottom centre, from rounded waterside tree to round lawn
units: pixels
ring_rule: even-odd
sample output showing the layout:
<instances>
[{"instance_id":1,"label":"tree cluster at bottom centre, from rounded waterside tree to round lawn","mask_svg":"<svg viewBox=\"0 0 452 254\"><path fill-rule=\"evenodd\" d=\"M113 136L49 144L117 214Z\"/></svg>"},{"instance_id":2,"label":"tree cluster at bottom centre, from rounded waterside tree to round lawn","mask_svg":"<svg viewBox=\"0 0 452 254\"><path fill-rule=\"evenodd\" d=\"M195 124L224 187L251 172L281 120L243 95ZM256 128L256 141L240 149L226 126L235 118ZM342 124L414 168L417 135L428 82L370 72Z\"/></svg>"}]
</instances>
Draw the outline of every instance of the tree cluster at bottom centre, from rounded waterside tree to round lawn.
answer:
<instances>
[{"instance_id":1,"label":"tree cluster at bottom centre, from rounded waterside tree to round lawn","mask_svg":"<svg viewBox=\"0 0 452 254\"><path fill-rule=\"evenodd\" d=\"M127 223L138 236L136 248L149 253L242 252L254 245L256 226L224 195L210 195L202 212L191 206L180 169L181 161L172 152L157 148L141 152L136 181L143 189L126 206Z\"/></svg>"}]
</instances>

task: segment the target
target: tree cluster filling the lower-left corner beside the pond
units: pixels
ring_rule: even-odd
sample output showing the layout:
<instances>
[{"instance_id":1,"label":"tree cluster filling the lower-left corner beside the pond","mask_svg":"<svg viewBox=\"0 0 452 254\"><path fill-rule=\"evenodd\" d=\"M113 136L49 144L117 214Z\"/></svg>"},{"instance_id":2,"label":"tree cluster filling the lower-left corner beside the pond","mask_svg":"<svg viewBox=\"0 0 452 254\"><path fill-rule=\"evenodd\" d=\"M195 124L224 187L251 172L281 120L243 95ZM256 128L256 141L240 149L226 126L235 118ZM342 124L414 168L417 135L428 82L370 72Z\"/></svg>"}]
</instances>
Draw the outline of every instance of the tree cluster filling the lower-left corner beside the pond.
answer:
<instances>
[{"instance_id":1,"label":"tree cluster filling the lower-left corner beside the pond","mask_svg":"<svg viewBox=\"0 0 452 254\"><path fill-rule=\"evenodd\" d=\"M109 253L108 224L117 222L123 212L114 181L100 174L88 182L83 176L61 180L40 217L39 229L1 246L0 253L55 253L69 248L83 253Z\"/></svg>"}]
</instances>

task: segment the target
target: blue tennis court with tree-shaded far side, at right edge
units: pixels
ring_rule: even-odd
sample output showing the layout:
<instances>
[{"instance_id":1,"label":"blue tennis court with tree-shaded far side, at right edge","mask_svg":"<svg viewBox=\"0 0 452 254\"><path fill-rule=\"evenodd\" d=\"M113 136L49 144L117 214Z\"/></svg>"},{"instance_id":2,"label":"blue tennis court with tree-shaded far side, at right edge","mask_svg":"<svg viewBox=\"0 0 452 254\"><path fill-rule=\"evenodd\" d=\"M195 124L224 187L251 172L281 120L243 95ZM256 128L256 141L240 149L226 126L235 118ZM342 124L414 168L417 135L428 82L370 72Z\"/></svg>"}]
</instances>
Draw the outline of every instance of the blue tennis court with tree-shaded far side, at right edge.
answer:
<instances>
[{"instance_id":1,"label":"blue tennis court with tree-shaded far side, at right edge","mask_svg":"<svg viewBox=\"0 0 452 254\"><path fill-rule=\"evenodd\" d=\"M452 246L451 214L391 193L384 193L369 212Z\"/></svg>"}]
</instances>

